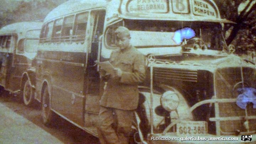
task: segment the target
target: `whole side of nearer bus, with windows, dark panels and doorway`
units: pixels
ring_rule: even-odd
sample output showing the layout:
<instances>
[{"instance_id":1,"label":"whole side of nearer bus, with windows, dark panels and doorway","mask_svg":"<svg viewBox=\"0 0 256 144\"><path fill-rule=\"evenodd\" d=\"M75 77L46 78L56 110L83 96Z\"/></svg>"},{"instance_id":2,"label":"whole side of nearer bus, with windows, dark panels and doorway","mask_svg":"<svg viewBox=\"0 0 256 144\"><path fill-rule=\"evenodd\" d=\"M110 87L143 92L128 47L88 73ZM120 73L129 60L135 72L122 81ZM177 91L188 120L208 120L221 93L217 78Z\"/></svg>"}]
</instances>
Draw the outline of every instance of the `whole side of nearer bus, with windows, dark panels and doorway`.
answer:
<instances>
[{"instance_id":1,"label":"whole side of nearer bus, with windows, dark panels and doorway","mask_svg":"<svg viewBox=\"0 0 256 144\"><path fill-rule=\"evenodd\" d=\"M102 6L55 14L45 21L38 46L36 99L42 100L44 84L49 81L50 108L85 130L96 122L92 120L99 110L95 99L102 93L95 64L104 20ZM90 129L95 134L95 127Z\"/></svg>"}]
</instances>

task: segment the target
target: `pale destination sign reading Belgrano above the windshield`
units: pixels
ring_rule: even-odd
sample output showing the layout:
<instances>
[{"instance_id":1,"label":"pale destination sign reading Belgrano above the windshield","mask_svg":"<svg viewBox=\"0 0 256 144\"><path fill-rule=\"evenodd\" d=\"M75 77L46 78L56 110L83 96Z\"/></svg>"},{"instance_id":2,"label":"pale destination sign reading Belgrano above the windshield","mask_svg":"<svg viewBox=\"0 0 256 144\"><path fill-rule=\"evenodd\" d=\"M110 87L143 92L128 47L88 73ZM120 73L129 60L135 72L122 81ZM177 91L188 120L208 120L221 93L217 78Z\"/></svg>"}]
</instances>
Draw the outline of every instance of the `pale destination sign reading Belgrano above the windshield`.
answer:
<instances>
[{"instance_id":1,"label":"pale destination sign reading Belgrano above the windshield","mask_svg":"<svg viewBox=\"0 0 256 144\"><path fill-rule=\"evenodd\" d=\"M131 0L127 11L134 13L166 13L169 11L169 0Z\"/></svg>"}]
</instances>

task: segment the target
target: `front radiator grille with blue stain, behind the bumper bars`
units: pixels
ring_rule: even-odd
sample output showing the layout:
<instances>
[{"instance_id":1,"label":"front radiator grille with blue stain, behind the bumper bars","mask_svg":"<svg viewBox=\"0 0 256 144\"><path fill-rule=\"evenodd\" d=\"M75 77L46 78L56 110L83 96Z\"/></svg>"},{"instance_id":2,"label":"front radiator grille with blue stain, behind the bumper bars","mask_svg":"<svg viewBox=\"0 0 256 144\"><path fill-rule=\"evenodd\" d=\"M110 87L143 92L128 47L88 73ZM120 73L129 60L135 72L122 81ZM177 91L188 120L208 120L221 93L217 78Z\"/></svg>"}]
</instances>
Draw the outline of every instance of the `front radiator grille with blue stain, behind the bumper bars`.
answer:
<instances>
[{"instance_id":1,"label":"front radiator grille with blue stain, behind the bumper bars","mask_svg":"<svg viewBox=\"0 0 256 144\"><path fill-rule=\"evenodd\" d=\"M242 68L245 86L251 86L251 76L254 73L254 69ZM219 69L216 72L216 95L217 98L237 98L238 94L234 91L234 87L241 87L242 84L238 82L242 81L241 68L224 68ZM237 85L236 85L237 84ZM235 86L236 85L236 86ZM239 86L240 85L240 86ZM256 109L252 106L247 107L248 116L256 116ZM235 102L219 103L219 116L220 117L244 117L245 110L239 108ZM240 130L246 132L243 126L245 120L235 121L221 121L220 129L222 132L235 132ZM249 131L256 130L256 120L249 120Z\"/></svg>"}]
</instances>

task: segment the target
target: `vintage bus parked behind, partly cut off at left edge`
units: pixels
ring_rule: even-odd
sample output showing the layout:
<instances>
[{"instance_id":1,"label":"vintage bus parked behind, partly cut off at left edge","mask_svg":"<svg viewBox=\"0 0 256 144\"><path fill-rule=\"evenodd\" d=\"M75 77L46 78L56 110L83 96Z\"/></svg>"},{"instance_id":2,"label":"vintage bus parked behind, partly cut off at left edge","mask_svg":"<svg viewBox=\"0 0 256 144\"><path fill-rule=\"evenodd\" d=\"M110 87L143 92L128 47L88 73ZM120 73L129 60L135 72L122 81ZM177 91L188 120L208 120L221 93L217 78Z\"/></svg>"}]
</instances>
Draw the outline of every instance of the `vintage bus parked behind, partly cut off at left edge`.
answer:
<instances>
[{"instance_id":1,"label":"vintage bus parked behind, partly cut off at left edge","mask_svg":"<svg viewBox=\"0 0 256 144\"><path fill-rule=\"evenodd\" d=\"M34 100L34 69L42 22L18 22L0 29L0 86L15 95L21 93L25 105ZM35 61L34 61L35 62ZM32 75L31 75L32 74Z\"/></svg>"}]
</instances>

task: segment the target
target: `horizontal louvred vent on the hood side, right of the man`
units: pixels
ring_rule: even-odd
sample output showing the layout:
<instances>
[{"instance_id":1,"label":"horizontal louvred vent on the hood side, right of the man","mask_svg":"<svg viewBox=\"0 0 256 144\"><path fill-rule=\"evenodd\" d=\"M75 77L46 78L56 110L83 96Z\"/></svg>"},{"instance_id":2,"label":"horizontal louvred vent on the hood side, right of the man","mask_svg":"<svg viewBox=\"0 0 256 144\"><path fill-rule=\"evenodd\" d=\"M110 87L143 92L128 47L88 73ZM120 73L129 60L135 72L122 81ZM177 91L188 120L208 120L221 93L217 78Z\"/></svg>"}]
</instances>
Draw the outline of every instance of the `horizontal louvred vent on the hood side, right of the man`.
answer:
<instances>
[{"instance_id":1,"label":"horizontal louvred vent on the hood side, right of the man","mask_svg":"<svg viewBox=\"0 0 256 144\"><path fill-rule=\"evenodd\" d=\"M197 82L197 70L154 68L154 78L156 81L165 79Z\"/></svg>"}]
</instances>

